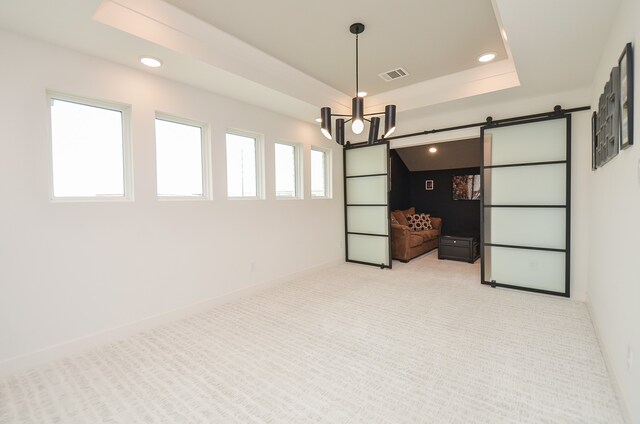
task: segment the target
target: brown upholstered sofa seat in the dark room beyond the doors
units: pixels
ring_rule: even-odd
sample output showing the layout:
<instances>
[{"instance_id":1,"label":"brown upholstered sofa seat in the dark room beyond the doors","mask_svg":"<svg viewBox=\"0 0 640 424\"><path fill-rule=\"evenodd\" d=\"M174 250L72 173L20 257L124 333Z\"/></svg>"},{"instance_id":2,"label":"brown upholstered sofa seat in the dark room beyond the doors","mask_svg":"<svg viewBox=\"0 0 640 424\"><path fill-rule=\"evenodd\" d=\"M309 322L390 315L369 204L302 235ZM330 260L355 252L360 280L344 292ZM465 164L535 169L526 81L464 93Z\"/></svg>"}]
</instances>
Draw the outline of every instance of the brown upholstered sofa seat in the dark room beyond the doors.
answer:
<instances>
[{"instance_id":1,"label":"brown upholstered sofa seat in the dark room beyond the doors","mask_svg":"<svg viewBox=\"0 0 640 424\"><path fill-rule=\"evenodd\" d=\"M409 262L416 256L437 248L440 241L442 218L431 217L431 225L433 226L431 230L411 231L406 225L405 215L412 213L415 213L414 208L392 212L392 217L398 223L391 224L391 257L401 262ZM405 218L404 222L402 218Z\"/></svg>"}]
</instances>

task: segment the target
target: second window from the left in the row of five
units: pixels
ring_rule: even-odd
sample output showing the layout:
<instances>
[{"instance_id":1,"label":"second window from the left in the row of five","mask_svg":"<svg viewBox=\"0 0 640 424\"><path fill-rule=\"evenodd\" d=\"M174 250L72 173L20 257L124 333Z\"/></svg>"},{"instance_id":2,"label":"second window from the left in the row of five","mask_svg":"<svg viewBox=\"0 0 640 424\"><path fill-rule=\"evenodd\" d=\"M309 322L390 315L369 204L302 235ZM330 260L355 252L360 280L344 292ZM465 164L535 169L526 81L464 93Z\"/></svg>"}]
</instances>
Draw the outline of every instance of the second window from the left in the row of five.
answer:
<instances>
[{"instance_id":1,"label":"second window from the left in the row of five","mask_svg":"<svg viewBox=\"0 0 640 424\"><path fill-rule=\"evenodd\" d=\"M156 173L160 197L206 197L206 170L201 125L156 117Z\"/></svg>"}]
</instances>

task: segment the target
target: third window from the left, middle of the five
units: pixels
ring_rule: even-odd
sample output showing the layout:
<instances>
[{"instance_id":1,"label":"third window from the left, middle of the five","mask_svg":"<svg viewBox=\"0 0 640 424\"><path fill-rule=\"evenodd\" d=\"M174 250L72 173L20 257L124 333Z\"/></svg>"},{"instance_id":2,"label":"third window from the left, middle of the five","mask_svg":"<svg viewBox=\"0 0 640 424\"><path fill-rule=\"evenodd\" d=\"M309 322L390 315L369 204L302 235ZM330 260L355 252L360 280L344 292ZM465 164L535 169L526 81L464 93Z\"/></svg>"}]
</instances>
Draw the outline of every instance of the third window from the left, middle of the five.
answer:
<instances>
[{"instance_id":1,"label":"third window from the left, middle of the five","mask_svg":"<svg viewBox=\"0 0 640 424\"><path fill-rule=\"evenodd\" d=\"M255 135L227 133L227 195L262 198L262 143Z\"/></svg>"}]
</instances>

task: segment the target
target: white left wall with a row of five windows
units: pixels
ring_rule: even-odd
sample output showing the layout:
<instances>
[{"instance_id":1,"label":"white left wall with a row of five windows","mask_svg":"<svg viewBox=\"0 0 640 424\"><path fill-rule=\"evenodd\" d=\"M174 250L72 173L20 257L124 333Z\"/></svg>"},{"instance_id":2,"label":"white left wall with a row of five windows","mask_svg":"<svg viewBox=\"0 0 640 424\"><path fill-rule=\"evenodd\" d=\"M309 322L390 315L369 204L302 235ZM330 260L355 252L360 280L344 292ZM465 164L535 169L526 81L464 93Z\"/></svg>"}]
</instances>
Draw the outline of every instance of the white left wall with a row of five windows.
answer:
<instances>
[{"instance_id":1,"label":"white left wall with a row of five windows","mask_svg":"<svg viewBox=\"0 0 640 424\"><path fill-rule=\"evenodd\" d=\"M341 150L315 125L6 32L0 51L0 368L343 260ZM132 106L135 201L49 200L47 89ZM156 111L210 123L212 201L156 199ZM264 134L266 200L226 199L227 128ZM304 143L305 200L274 198L278 139ZM310 199L311 145L333 149L332 200Z\"/></svg>"}]
</instances>

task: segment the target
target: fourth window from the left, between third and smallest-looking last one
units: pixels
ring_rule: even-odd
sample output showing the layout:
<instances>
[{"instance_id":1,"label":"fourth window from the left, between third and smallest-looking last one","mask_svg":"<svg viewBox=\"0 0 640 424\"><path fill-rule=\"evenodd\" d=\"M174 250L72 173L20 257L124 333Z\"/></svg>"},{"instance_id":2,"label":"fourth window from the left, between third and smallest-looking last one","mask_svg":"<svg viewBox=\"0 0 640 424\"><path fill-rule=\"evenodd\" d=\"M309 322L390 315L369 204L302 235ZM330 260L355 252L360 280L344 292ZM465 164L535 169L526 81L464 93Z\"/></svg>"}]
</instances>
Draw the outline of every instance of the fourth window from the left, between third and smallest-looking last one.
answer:
<instances>
[{"instance_id":1,"label":"fourth window from the left, between third and smallest-looking last one","mask_svg":"<svg viewBox=\"0 0 640 424\"><path fill-rule=\"evenodd\" d=\"M300 147L295 144L275 143L276 197L302 198L300 183Z\"/></svg>"}]
</instances>

